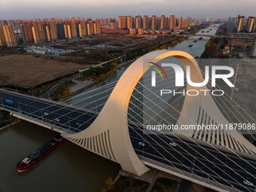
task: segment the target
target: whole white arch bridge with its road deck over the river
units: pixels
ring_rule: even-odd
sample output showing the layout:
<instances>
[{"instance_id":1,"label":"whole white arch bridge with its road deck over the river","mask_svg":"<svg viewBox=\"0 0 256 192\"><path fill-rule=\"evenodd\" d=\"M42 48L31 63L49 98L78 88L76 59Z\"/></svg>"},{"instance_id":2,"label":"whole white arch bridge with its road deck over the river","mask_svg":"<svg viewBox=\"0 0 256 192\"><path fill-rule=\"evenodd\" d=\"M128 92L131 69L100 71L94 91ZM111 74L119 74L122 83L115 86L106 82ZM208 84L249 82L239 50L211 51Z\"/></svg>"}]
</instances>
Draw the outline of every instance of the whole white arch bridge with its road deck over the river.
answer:
<instances>
[{"instance_id":1,"label":"whole white arch bridge with its road deck over the river","mask_svg":"<svg viewBox=\"0 0 256 192\"><path fill-rule=\"evenodd\" d=\"M0 91L0 108L10 111L20 119L62 133L69 141L119 163L123 170L135 175L143 175L154 167L215 190L254 191L256 148L238 131L218 129L145 133L141 123L128 120L129 115L133 115L133 119L143 118L142 114L130 108L132 100L135 102L131 99L133 91L136 90L137 84L141 84L139 80L148 70L148 66L143 65L143 60L159 62L169 56L179 59L184 67L190 66L194 82L203 81L203 75L193 56L182 51L157 50L133 62L117 84L105 85L101 93L111 91L109 97L103 98L105 96L100 96L100 93L90 96L95 100L107 99L99 113L93 110L98 108L98 105L84 109L86 105L91 105L88 102L74 106L7 90ZM186 89L190 88L192 87L187 84ZM193 89L207 90L207 87ZM143 95L139 90L136 91ZM81 98L77 102L89 97ZM12 103L6 102L7 99ZM152 103L156 104L154 101L151 101ZM147 110L151 110L151 104L147 106L145 103L139 103L146 105ZM133 111L133 114L129 111ZM166 113L169 114L168 111ZM212 96L204 96L202 92L198 96L185 96L184 105L176 121L178 126L191 123L229 123L219 111ZM255 123L253 118L251 123ZM249 181L251 185L245 184L244 181Z\"/></svg>"}]
</instances>

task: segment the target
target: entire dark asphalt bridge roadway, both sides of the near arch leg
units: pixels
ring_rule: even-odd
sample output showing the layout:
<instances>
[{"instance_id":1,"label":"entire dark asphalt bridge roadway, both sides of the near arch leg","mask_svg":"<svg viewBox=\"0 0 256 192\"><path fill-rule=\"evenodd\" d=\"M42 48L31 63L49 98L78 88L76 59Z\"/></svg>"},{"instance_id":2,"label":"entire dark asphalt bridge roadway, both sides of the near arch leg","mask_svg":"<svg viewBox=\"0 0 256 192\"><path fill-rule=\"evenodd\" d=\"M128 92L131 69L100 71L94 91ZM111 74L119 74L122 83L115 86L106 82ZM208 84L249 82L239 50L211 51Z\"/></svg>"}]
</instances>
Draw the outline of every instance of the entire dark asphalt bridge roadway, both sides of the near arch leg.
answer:
<instances>
[{"instance_id":1,"label":"entire dark asphalt bridge roadway, both sides of the near arch leg","mask_svg":"<svg viewBox=\"0 0 256 192\"><path fill-rule=\"evenodd\" d=\"M0 90L0 99L0 108L43 120L61 127L66 132L80 132L90 126L96 118L96 114L77 108L5 90ZM5 99L10 99L13 104L5 103ZM255 190L255 187L243 184L244 179L256 184L255 159L243 157L247 163L232 152L223 151L224 155L211 146L195 144L187 139L163 135L148 136L133 123L129 124L129 131L133 148L143 157L164 163L172 169L176 167L189 172L194 178L200 175L227 186L233 185L241 191ZM139 142L144 142L145 146L138 145ZM177 146L171 146L169 142L175 142Z\"/></svg>"}]
</instances>

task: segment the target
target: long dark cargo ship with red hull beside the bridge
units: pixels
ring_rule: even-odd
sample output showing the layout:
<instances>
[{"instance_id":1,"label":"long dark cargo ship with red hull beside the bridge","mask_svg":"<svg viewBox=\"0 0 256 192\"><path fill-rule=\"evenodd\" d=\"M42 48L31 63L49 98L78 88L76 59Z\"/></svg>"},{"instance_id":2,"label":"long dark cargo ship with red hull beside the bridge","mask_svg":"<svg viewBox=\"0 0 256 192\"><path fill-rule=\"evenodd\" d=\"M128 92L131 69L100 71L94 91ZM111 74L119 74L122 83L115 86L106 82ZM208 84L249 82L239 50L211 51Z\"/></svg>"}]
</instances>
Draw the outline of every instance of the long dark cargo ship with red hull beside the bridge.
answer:
<instances>
[{"instance_id":1,"label":"long dark cargo ship with red hull beside the bridge","mask_svg":"<svg viewBox=\"0 0 256 192\"><path fill-rule=\"evenodd\" d=\"M29 154L28 157L21 160L17 164L18 172L26 171L30 167L35 166L40 160L46 157L47 154L50 154L50 152L58 147L63 141L64 138L62 138L60 135L53 137L53 139L41 146L41 148L38 148L32 154Z\"/></svg>"}]
</instances>

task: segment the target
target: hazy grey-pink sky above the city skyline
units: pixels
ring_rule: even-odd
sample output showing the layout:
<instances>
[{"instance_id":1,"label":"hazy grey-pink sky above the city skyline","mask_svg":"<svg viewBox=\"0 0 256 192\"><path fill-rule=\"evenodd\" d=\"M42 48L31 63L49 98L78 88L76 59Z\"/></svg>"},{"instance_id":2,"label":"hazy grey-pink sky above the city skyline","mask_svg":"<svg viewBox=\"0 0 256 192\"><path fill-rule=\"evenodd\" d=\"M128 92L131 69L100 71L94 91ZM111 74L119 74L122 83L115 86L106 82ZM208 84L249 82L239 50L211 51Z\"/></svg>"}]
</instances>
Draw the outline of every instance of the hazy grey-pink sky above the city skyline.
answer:
<instances>
[{"instance_id":1,"label":"hazy grey-pink sky above the city skyline","mask_svg":"<svg viewBox=\"0 0 256 192\"><path fill-rule=\"evenodd\" d=\"M0 20L120 15L227 18L256 16L255 0L0 0Z\"/></svg>"}]
</instances>

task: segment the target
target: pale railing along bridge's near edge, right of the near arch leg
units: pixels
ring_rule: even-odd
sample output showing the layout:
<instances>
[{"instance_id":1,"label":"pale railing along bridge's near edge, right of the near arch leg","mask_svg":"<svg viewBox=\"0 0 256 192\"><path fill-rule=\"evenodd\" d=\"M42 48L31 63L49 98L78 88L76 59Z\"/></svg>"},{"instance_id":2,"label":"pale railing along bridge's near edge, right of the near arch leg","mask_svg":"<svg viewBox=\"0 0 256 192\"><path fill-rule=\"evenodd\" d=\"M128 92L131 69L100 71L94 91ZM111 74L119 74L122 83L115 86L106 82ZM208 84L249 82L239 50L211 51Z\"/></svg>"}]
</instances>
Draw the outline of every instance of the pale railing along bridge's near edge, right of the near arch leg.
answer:
<instances>
[{"instance_id":1,"label":"pale railing along bridge's near edge, right of the near arch leg","mask_svg":"<svg viewBox=\"0 0 256 192\"><path fill-rule=\"evenodd\" d=\"M169 169L169 170L171 170L172 172L177 172L177 168L175 168L175 167L173 167L173 166L166 165L165 163L160 163L160 162L158 162L157 160L152 160L152 159L150 159L150 158L148 158L148 157L143 157L142 155L139 155L139 154L137 154L137 155L138 155L138 157L139 157L140 160L143 160L143 161L148 162L148 163L152 163L152 164L154 164L154 165L156 165L156 166L160 166L160 167L163 167L163 168L165 168L165 169ZM182 170L182 169L178 169L178 170L179 170L179 172L183 173L184 175L186 175L187 177L190 177L190 178L196 175L196 174L193 173L193 172L187 172L187 171L184 171L184 170ZM178 172L178 173L179 173L179 172ZM223 186L224 186L226 190L237 191L237 192L240 191L240 190L236 189L236 187L230 187L230 186L228 186L228 185L226 185L226 184L219 184L218 181L213 181L213 180L211 180L211 179L209 179L209 178L203 178L203 177L200 176L200 175L197 175L197 178L200 178L200 179L201 179L201 180L199 180L199 181L204 181L204 182L206 182L206 183L208 183L208 184L214 185L215 187L219 187L219 188L221 187L221 188L223 188ZM194 179L197 179L197 178L194 178Z\"/></svg>"}]
</instances>

